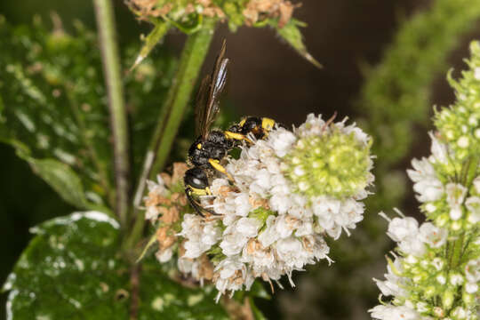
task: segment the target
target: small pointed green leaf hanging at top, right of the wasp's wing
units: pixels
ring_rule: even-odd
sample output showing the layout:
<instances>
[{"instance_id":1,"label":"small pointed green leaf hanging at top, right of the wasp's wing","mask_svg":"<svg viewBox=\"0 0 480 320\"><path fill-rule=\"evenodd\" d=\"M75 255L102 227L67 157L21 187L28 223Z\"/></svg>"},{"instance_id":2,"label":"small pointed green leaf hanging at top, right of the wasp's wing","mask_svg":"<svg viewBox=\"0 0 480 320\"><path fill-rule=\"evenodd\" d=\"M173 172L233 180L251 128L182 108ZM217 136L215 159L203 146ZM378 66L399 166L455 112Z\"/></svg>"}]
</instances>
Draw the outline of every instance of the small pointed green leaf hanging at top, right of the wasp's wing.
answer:
<instances>
[{"instance_id":1,"label":"small pointed green leaf hanging at top, right of the wasp's wing","mask_svg":"<svg viewBox=\"0 0 480 320\"><path fill-rule=\"evenodd\" d=\"M318 62L307 51L307 47L303 43L303 36L301 36L300 27L306 27L307 24L299 20L291 19L284 25L283 28L278 28L278 20L268 20L268 24L273 28L276 28L276 32L281 36L288 44L292 45L292 48L299 52L300 56L312 63L316 68L323 68L320 62Z\"/></svg>"}]
</instances>

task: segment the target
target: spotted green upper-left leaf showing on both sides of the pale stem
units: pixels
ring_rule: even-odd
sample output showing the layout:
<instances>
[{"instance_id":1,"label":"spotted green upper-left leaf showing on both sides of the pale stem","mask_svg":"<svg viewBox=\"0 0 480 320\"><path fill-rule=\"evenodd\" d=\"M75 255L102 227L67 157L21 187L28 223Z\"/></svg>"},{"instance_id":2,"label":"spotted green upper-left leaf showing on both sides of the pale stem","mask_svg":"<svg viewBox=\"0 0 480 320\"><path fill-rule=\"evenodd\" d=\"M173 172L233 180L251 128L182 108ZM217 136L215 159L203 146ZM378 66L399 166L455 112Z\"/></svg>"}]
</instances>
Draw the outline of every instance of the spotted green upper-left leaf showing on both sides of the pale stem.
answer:
<instances>
[{"instance_id":1,"label":"spotted green upper-left leaf showing on both sides of the pale stem","mask_svg":"<svg viewBox=\"0 0 480 320\"><path fill-rule=\"evenodd\" d=\"M50 31L38 20L12 28L0 17L0 47L0 141L16 148L69 204L112 207L107 93L95 34L80 23L72 35ZM127 47L125 70L138 52L138 46ZM171 54L160 53L124 76L134 172L176 66Z\"/></svg>"}]
</instances>

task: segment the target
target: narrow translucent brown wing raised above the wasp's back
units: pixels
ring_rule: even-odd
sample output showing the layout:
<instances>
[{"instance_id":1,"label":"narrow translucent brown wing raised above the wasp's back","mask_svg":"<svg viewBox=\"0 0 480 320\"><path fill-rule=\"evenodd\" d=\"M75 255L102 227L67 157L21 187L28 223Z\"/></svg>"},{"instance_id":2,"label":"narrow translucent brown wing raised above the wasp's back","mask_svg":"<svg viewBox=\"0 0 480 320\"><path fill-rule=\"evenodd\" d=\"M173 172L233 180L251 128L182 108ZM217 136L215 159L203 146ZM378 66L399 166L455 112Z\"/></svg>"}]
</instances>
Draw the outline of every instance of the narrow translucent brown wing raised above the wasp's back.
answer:
<instances>
[{"instance_id":1,"label":"narrow translucent brown wing raised above the wasp's back","mask_svg":"<svg viewBox=\"0 0 480 320\"><path fill-rule=\"evenodd\" d=\"M204 140L220 111L220 95L227 83L228 59L225 55L225 41L221 46L212 75L205 76L196 98L196 134Z\"/></svg>"}]
</instances>

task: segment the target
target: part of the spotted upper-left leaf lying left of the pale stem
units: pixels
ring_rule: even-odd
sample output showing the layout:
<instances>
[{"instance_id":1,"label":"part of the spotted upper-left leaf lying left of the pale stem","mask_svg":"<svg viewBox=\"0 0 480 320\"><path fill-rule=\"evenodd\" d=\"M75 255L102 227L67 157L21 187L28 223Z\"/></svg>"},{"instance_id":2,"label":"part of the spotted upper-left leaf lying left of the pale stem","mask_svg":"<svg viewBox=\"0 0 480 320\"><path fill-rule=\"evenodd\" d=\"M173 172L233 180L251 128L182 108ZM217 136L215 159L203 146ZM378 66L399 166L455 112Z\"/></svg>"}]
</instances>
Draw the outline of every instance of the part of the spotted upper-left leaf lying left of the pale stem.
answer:
<instances>
[{"instance_id":1,"label":"part of the spotted upper-left leaf lying left of the pale stem","mask_svg":"<svg viewBox=\"0 0 480 320\"><path fill-rule=\"evenodd\" d=\"M0 21L0 139L81 208L104 205L111 189L108 110L95 43L80 28L73 37L48 32L38 21L34 28ZM87 194L98 196L92 201Z\"/></svg>"}]
</instances>

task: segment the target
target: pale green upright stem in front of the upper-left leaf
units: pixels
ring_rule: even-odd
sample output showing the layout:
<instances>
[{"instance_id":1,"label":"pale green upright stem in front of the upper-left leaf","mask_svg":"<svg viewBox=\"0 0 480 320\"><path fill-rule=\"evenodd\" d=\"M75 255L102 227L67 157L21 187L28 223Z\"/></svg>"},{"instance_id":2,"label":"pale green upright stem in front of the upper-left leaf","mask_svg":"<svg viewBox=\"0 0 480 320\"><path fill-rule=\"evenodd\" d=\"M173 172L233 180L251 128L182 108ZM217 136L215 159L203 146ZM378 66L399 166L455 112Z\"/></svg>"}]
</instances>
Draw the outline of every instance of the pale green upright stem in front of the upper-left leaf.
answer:
<instances>
[{"instance_id":1,"label":"pale green upright stem in front of the upper-left leaf","mask_svg":"<svg viewBox=\"0 0 480 320\"><path fill-rule=\"evenodd\" d=\"M108 89L108 108L114 144L114 166L116 179L115 212L122 228L126 227L129 209L128 125L124 106L120 59L116 44L115 19L111 0L93 0L97 27L100 36L101 60L105 83Z\"/></svg>"}]
</instances>

